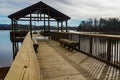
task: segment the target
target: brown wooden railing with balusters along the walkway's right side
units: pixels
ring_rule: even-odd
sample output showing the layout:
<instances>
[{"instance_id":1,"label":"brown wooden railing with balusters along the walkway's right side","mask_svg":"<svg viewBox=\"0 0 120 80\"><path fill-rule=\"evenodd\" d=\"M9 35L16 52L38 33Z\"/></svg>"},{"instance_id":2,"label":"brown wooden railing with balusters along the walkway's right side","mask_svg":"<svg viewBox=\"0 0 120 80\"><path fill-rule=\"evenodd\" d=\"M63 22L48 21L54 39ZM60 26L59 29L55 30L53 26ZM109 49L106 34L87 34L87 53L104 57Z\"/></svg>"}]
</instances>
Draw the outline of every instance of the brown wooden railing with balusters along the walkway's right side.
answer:
<instances>
[{"instance_id":1,"label":"brown wooden railing with balusters along the walkway's right side","mask_svg":"<svg viewBox=\"0 0 120 80\"><path fill-rule=\"evenodd\" d=\"M120 69L120 36L90 33L51 32L51 39L79 42L75 49Z\"/></svg>"}]
</instances>

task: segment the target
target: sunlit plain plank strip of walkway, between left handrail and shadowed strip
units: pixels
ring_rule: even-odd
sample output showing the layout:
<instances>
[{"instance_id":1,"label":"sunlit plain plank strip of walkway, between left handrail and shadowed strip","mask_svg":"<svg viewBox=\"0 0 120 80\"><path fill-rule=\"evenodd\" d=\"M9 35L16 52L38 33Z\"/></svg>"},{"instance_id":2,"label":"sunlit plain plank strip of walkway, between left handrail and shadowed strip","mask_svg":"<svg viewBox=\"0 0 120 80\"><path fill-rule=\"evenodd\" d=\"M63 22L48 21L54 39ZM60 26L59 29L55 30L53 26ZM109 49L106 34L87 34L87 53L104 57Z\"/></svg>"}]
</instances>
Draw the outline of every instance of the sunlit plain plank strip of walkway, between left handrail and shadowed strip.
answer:
<instances>
[{"instance_id":1,"label":"sunlit plain plank strip of walkway, between left handrail and shadowed strip","mask_svg":"<svg viewBox=\"0 0 120 80\"><path fill-rule=\"evenodd\" d=\"M37 56L44 80L87 80L57 51L48 45L47 40L39 41Z\"/></svg>"}]
</instances>

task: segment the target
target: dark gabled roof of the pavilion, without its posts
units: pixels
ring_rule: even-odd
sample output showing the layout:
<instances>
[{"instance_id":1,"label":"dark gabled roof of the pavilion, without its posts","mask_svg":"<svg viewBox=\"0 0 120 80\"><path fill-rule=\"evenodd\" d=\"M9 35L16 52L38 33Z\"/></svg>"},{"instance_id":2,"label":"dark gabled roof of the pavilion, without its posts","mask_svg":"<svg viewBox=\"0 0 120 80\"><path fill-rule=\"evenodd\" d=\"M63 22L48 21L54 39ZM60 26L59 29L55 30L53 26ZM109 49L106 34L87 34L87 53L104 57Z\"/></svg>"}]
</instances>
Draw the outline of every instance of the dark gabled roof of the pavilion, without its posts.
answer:
<instances>
[{"instance_id":1,"label":"dark gabled roof of the pavilion, without its posts","mask_svg":"<svg viewBox=\"0 0 120 80\"><path fill-rule=\"evenodd\" d=\"M19 20L20 18L24 18L26 15L29 15L30 13L43 13L43 14L49 15L50 18L54 18L56 21L65 21L65 20L70 19L69 16L61 13L60 11L43 3L42 1L36 4L33 4L29 7L26 7L18 12L15 12L9 15L8 17L10 19Z\"/></svg>"}]
</instances>

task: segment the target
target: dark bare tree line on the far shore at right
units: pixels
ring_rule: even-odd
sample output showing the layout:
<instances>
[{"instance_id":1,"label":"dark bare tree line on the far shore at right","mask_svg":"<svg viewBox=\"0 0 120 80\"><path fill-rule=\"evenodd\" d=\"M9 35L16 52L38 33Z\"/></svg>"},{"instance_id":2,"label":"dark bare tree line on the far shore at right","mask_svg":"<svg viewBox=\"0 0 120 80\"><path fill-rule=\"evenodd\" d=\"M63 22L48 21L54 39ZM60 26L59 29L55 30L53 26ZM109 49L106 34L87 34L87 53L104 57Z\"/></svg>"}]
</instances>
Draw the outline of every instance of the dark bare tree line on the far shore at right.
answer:
<instances>
[{"instance_id":1,"label":"dark bare tree line on the far shore at right","mask_svg":"<svg viewBox=\"0 0 120 80\"><path fill-rule=\"evenodd\" d=\"M120 19L119 18L89 18L82 21L77 27L77 31L90 31L90 32L119 32Z\"/></svg>"}]
</instances>

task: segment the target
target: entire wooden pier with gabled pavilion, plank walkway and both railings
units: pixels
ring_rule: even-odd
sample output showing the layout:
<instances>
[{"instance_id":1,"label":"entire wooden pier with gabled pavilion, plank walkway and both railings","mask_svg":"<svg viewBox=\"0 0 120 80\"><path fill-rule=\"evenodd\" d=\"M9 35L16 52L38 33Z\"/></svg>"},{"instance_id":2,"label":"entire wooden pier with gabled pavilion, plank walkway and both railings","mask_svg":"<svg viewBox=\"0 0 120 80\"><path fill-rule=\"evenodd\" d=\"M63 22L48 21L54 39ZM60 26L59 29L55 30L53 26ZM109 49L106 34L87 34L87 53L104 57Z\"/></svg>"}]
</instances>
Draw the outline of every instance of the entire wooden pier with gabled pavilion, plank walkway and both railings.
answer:
<instances>
[{"instance_id":1,"label":"entire wooden pier with gabled pavilion, plank walkway and both railings","mask_svg":"<svg viewBox=\"0 0 120 80\"><path fill-rule=\"evenodd\" d=\"M120 36L67 32L70 17L43 2L8 17L12 23L13 53L17 54L5 80L120 79ZM24 34L24 31L17 30L18 21L29 21L29 31ZM32 33L33 21L44 21L47 37ZM50 21L57 22L58 31L51 31ZM63 22L66 23L66 32L63 32ZM37 50L34 50L34 39L39 46ZM60 39L77 42L78 46L70 51L69 46L60 45ZM20 49L18 42L22 42Z\"/></svg>"}]
</instances>

